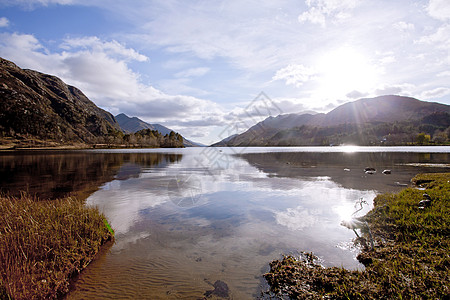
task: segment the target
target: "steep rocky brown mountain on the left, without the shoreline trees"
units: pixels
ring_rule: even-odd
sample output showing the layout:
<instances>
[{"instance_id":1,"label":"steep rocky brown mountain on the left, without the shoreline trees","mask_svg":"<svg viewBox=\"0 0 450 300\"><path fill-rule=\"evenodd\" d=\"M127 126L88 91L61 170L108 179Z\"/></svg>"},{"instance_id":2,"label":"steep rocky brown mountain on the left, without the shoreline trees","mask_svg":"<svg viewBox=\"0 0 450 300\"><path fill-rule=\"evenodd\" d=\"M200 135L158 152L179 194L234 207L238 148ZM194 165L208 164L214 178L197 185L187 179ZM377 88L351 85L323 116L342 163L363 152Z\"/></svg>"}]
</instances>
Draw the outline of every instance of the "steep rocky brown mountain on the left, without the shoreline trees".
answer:
<instances>
[{"instance_id":1,"label":"steep rocky brown mountain on the left, without the shoreline trees","mask_svg":"<svg viewBox=\"0 0 450 300\"><path fill-rule=\"evenodd\" d=\"M0 77L3 138L91 143L120 131L112 114L58 77L21 69L3 58Z\"/></svg>"}]
</instances>

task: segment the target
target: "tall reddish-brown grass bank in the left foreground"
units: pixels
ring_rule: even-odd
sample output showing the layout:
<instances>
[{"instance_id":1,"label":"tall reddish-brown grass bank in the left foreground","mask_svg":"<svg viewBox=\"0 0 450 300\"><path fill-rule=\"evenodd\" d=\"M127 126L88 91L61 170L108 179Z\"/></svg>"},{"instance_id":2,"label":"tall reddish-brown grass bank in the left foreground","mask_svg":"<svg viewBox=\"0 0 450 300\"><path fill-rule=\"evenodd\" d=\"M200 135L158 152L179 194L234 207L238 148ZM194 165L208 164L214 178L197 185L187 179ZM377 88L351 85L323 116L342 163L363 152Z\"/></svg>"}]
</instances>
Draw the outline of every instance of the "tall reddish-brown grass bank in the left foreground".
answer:
<instances>
[{"instance_id":1,"label":"tall reddish-brown grass bank in the left foreground","mask_svg":"<svg viewBox=\"0 0 450 300\"><path fill-rule=\"evenodd\" d=\"M65 198L0 196L0 299L57 298L112 238L97 209Z\"/></svg>"}]
</instances>

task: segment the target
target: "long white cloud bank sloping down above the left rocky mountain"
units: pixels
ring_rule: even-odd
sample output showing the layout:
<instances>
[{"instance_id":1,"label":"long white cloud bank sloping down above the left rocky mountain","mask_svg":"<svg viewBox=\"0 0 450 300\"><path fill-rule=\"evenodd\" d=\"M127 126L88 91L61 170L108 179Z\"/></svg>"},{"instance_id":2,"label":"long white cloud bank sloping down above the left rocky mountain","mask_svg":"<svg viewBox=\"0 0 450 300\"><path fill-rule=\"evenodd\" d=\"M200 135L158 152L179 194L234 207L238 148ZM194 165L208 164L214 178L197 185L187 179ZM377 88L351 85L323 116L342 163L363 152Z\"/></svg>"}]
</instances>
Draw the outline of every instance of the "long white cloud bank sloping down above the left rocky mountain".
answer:
<instances>
[{"instance_id":1,"label":"long white cloud bank sloping down above the left rocky mountain","mask_svg":"<svg viewBox=\"0 0 450 300\"><path fill-rule=\"evenodd\" d=\"M65 40L61 47L63 51L51 53L32 35L0 35L0 56L22 68L62 78L113 114L124 112L153 123L183 120L186 126L222 115L220 107L211 101L169 95L142 83L128 62L145 63L146 56L118 42L88 37Z\"/></svg>"}]
</instances>

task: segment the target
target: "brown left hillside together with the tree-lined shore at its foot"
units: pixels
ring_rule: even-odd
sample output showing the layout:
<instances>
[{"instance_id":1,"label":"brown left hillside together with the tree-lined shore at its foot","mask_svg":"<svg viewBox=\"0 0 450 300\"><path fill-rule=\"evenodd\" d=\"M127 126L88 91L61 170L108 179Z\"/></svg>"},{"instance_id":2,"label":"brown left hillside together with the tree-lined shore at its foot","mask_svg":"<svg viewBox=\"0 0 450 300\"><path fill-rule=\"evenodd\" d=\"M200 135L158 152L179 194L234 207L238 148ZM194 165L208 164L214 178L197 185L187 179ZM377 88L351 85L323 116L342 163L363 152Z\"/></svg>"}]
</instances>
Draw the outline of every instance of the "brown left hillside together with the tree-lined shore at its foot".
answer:
<instances>
[{"instance_id":1,"label":"brown left hillside together with the tree-lined shore at its foot","mask_svg":"<svg viewBox=\"0 0 450 300\"><path fill-rule=\"evenodd\" d=\"M1 148L183 147L181 135L164 136L169 132L161 135L156 128L142 127L137 135L125 136L112 114L56 76L21 69L0 58L0 78Z\"/></svg>"}]
</instances>

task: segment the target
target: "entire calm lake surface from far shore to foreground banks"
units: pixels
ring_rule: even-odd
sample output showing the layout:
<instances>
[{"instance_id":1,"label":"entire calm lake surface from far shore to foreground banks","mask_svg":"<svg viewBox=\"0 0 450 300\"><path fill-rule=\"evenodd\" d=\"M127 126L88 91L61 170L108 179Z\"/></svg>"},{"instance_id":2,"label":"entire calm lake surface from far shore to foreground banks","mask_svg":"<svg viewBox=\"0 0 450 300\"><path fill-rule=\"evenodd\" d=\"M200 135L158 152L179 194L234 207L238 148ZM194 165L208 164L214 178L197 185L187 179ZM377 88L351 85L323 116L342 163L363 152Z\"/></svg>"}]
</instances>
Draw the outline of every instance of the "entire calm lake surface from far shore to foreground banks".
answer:
<instances>
[{"instance_id":1,"label":"entire calm lake surface from far shore to foreground banks","mask_svg":"<svg viewBox=\"0 0 450 300\"><path fill-rule=\"evenodd\" d=\"M365 174L365 167L377 173ZM381 173L390 169L391 175ZM358 199L398 191L419 172L449 172L449 147L187 148L0 154L1 188L86 198L115 244L69 299L259 295L268 263L312 251L326 266L361 268L340 226Z\"/></svg>"}]
</instances>

